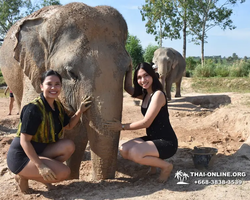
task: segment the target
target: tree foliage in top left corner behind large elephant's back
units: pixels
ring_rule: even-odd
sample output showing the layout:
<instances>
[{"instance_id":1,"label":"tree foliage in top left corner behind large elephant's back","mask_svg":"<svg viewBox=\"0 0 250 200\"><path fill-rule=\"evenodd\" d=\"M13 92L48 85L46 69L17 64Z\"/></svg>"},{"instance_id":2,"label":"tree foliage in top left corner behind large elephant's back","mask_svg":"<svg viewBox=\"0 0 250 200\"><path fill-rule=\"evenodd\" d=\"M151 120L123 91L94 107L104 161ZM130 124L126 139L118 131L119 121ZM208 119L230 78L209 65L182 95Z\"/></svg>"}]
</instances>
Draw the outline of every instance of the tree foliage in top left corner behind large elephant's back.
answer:
<instances>
[{"instance_id":1,"label":"tree foliage in top left corner behind large elephant's back","mask_svg":"<svg viewBox=\"0 0 250 200\"><path fill-rule=\"evenodd\" d=\"M32 4L31 0L0 0L0 41L16 21L48 5L60 5L60 1L39 0Z\"/></svg>"}]
</instances>

